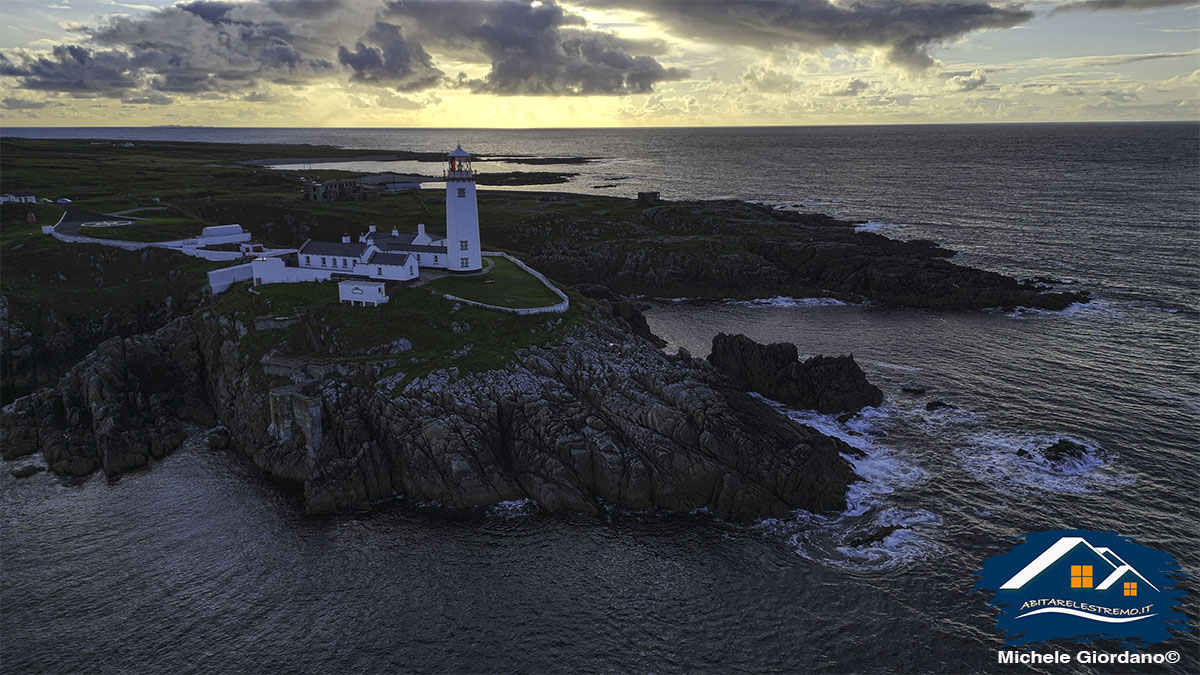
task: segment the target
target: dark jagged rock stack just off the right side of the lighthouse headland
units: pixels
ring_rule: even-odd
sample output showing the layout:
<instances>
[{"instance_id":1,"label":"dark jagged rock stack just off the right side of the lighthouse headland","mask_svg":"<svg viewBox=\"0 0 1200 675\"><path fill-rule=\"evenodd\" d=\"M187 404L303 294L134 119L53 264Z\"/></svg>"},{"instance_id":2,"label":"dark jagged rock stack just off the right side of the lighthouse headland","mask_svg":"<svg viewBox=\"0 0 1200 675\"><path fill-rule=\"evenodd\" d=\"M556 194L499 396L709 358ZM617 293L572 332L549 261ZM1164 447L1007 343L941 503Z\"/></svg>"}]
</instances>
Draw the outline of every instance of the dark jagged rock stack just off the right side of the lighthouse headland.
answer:
<instances>
[{"instance_id":1,"label":"dark jagged rock stack just off the right side of the lighthouse headland","mask_svg":"<svg viewBox=\"0 0 1200 675\"><path fill-rule=\"evenodd\" d=\"M883 402L854 357L812 357L800 363L796 345L760 345L745 335L719 333L708 362L746 390L821 413L859 411Z\"/></svg>"}]
</instances>

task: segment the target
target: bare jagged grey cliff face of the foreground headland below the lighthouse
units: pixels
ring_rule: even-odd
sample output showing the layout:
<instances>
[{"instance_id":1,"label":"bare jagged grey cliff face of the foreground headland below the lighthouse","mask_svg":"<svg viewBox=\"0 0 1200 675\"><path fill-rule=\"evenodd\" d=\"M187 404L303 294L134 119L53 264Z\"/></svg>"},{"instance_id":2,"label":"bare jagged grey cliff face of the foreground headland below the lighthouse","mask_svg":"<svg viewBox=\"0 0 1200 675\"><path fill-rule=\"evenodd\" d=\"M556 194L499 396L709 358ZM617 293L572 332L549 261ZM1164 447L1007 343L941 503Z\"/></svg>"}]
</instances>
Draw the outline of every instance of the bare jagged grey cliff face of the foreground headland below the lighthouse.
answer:
<instances>
[{"instance_id":1,"label":"bare jagged grey cliff face of the foreground headland below the lighthouse","mask_svg":"<svg viewBox=\"0 0 1200 675\"><path fill-rule=\"evenodd\" d=\"M220 423L259 467L302 485L313 513L404 495L750 519L844 508L854 479L841 441L608 318L522 350L503 370L449 368L397 390L370 363L319 377L296 366L293 384L262 390L236 348L246 330L205 311L103 342L56 389L5 410L6 456L41 448L55 472L112 474Z\"/></svg>"}]
</instances>

